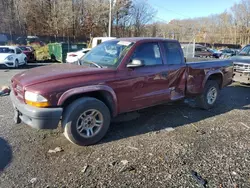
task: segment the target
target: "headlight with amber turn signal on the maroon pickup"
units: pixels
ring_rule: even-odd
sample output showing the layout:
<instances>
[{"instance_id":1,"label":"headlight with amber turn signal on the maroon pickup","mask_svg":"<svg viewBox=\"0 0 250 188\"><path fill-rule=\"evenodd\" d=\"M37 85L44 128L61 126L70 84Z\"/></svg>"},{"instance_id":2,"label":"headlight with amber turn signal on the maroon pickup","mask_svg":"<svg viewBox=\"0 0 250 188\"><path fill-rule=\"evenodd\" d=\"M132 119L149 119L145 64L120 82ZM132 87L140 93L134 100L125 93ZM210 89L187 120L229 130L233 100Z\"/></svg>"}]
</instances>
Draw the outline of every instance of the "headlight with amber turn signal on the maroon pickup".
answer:
<instances>
[{"instance_id":1,"label":"headlight with amber turn signal on the maroon pickup","mask_svg":"<svg viewBox=\"0 0 250 188\"><path fill-rule=\"evenodd\" d=\"M42 95L39 95L37 93L26 91L24 98L25 98L26 104L29 104L31 106L40 107L40 108L49 106L48 100Z\"/></svg>"}]
</instances>

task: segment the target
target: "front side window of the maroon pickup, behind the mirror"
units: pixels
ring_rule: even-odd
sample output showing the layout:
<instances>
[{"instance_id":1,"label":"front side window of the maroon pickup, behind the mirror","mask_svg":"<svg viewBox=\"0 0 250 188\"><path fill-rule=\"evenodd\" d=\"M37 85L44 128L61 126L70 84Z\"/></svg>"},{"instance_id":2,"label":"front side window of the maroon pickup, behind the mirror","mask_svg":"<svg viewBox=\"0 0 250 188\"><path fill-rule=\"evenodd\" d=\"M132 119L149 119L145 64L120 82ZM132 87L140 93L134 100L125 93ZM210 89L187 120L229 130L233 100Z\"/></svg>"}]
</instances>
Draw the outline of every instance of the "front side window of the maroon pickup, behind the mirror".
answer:
<instances>
[{"instance_id":1,"label":"front side window of the maroon pickup, behind the mirror","mask_svg":"<svg viewBox=\"0 0 250 188\"><path fill-rule=\"evenodd\" d=\"M142 60L145 66L162 65L160 47L156 42L144 43L138 46L132 59Z\"/></svg>"}]
</instances>

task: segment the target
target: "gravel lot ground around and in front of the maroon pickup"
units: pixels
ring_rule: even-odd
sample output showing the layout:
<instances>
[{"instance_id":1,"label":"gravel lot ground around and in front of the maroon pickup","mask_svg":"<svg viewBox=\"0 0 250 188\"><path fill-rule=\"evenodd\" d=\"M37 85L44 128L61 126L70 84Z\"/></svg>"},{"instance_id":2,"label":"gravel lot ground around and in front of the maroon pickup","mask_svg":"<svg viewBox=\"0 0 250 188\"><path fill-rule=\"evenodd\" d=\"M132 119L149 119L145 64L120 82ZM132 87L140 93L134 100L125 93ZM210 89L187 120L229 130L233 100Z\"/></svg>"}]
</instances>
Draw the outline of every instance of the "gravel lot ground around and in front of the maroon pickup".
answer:
<instances>
[{"instance_id":1,"label":"gravel lot ground around and in front of the maroon pickup","mask_svg":"<svg viewBox=\"0 0 250 188\"><path fill-rule=\"evenodd\" d=\"M17 72L0 70L0 85ZM202 187L192 171L207 187L250 187L249 91L233 84L209 111L181 102L142 110L89 147L59 129L14 125L0 97L0 187Z\"/></svg>"}]
</instances>

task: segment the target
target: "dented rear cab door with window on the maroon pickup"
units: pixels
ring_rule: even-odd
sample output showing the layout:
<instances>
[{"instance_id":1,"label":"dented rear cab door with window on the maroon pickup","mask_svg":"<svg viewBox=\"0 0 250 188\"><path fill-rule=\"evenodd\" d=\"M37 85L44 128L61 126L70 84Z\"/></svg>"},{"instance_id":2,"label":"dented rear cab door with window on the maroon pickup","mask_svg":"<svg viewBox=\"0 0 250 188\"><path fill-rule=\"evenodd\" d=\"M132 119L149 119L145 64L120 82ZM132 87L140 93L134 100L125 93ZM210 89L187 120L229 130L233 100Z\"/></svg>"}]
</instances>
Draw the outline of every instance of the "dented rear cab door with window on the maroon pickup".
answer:
<instances>
[{"instance_id":1,"label":"dented rear cab door with window on the maroon pickup","mask_svg":"<svg viewBox=\"0 0 250 188\"><path fill-rule=\"evenodd\" d=\"M186 87L186 63L178 42L167 41L162 43L164 49L164 64L167 65L167 85L170 91L170 100L184 98Z\"/></svg>"}]
</instances>

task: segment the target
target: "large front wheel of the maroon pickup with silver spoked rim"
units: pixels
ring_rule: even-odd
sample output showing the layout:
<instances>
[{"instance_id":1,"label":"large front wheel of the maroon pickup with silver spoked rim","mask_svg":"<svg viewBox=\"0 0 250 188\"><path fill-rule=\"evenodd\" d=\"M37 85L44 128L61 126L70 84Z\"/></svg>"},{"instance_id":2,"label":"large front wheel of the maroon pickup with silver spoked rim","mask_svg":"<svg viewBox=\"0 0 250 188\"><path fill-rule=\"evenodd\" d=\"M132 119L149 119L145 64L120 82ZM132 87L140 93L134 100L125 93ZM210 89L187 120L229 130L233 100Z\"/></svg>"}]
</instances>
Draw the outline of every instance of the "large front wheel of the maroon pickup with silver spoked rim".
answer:
<instances>
[{"instance_id":1,"label":"large front wheel of the maroon pickup with silver spoked rim","mask_svg":"<svg viewBox=\"0 0 250 188\"><path fill-rule=\"evenodd\" d=\"M102 101L91 97L80 98L71 103L62 117L65 137L81 146L100 141L107 133L109 124L108 107Z\"/></svg>"}]
</instances>

